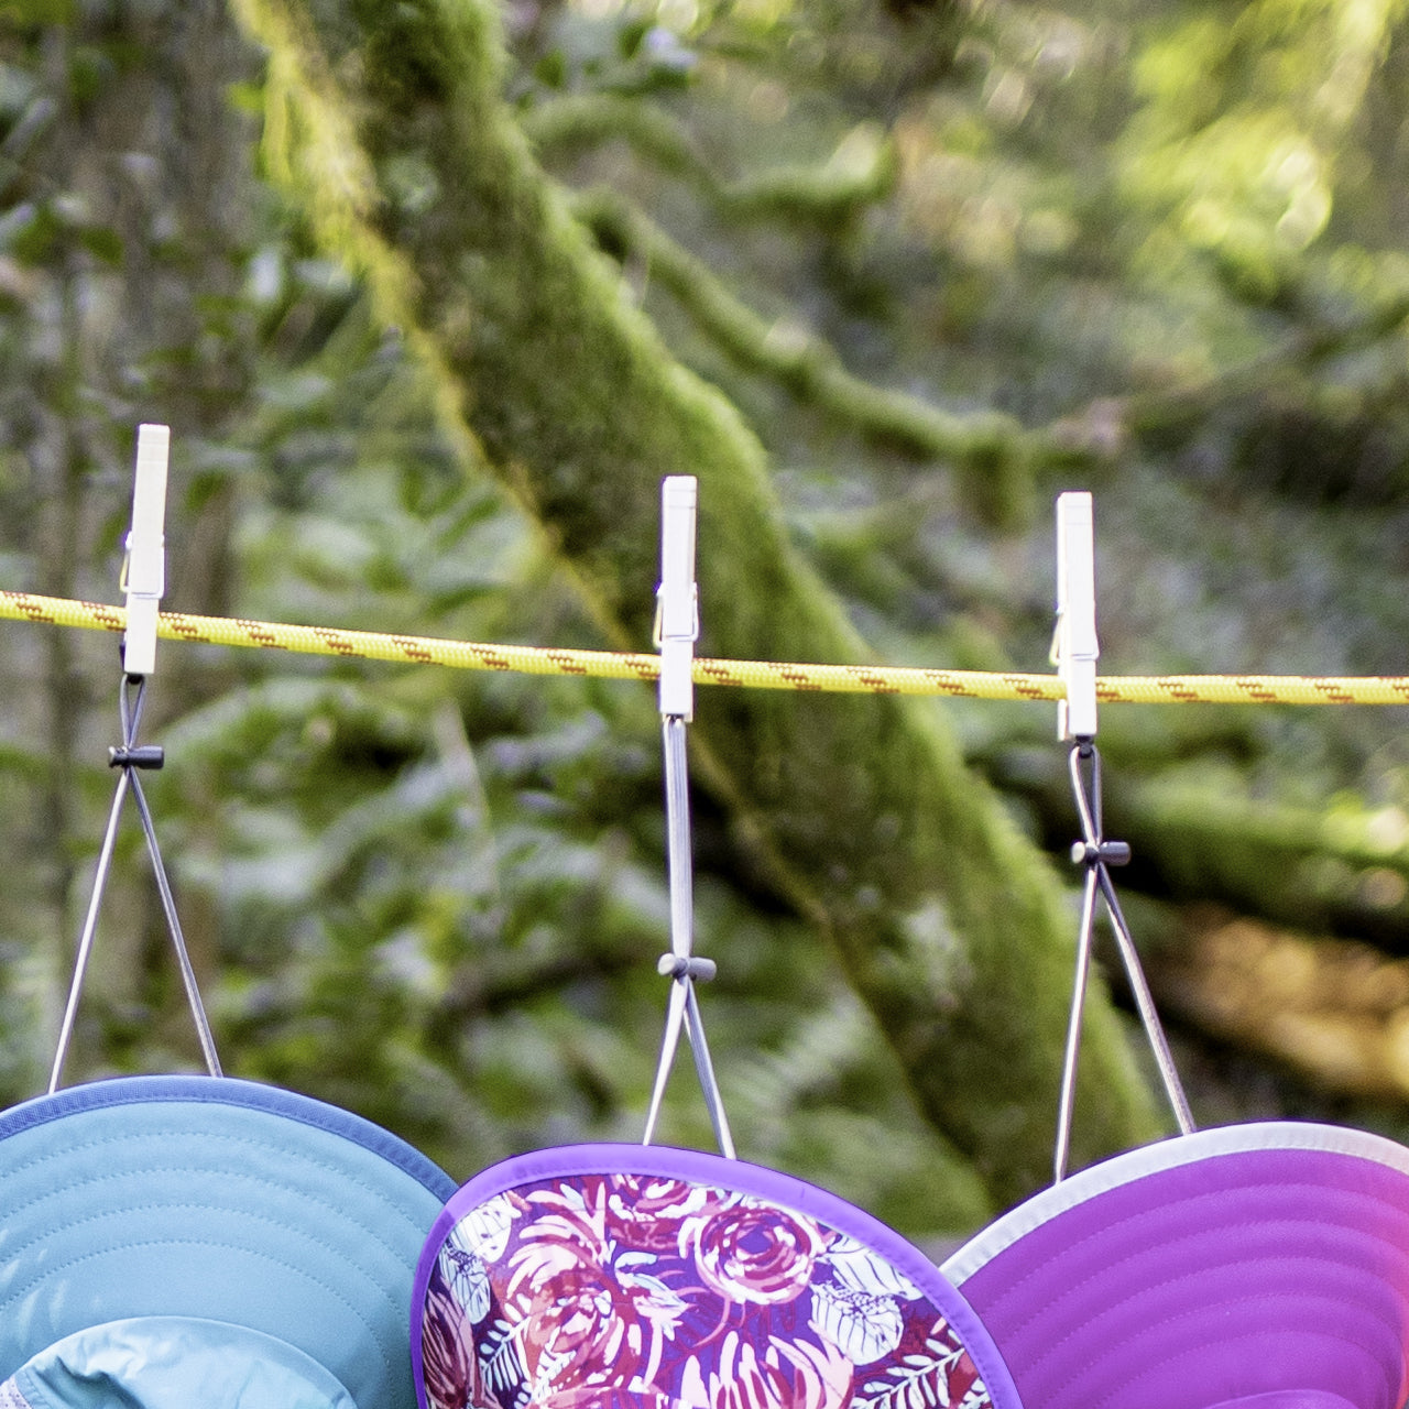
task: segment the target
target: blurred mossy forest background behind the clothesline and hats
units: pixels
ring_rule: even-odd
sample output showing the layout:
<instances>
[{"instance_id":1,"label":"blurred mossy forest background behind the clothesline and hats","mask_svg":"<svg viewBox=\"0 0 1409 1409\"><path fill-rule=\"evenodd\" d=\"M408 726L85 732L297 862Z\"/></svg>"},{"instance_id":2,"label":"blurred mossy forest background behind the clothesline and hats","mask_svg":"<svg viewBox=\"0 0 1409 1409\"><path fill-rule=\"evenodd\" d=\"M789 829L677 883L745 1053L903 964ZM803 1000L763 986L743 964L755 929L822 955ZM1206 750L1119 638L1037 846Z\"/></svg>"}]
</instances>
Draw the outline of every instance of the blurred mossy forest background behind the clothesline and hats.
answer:
<instances>
[{"instance_id":1,"label":"blurred mossy forest background behind the clothesline and hats","mask_svg":"<svg viewBox=\"0 0 1409 1409\"><path fill-rule=\"evenodd\" d=\"M0 0L0 586L172 610L1102 671L1409 655L1402 0ZM0 1099L42 1089L116 640L0 626ZM740 1153L903 1231L1044 1175L1078 879L1050 704L700 689L702 1003ZM912 709L912 703L914 707ZM163 643L142 737L230 1072L466 1178L637 1138L654 692ZM1200 1122L1409 1138L1409 735L1109 706L1116 879ZM1098 993L1084 1158L1164 1129ZM68 1076L196 1069L128 814ZM665 1137L709 1144L688 1062Z\"/></svg>"}]
</instances>

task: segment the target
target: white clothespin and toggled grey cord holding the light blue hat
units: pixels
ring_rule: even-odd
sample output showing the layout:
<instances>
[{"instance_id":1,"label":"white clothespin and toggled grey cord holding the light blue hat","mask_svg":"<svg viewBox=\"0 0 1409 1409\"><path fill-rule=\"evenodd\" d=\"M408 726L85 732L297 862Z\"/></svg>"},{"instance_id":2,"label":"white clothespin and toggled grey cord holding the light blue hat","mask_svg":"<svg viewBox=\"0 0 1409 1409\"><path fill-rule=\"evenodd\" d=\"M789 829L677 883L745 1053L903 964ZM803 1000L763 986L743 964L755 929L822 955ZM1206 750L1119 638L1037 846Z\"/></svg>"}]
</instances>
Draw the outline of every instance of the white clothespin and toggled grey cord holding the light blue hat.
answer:
<instances>
[{"instance_id":1,"label":"white clothespin and toggled grey cord holding the light blue hat","mask_svg":"<svg viewBox=\"0 0 1409 1409\"><path fill-rule=\"evenodd\" d=\"M83 920L83 933L79 937L77 957L73 964L73 981L69 985L68 1006L63 1012L58 1048L54 1054L54 1068L49 1074L49 1095L54 1095L59 1089L63 1062L73 1040L73 1023L77 1016L79 995L83 991L83 979L93 952L99 910L101 909L103 892L107 886L113 864L117 826L128 790L132 793L138 816L142 821L147 851L152 859L152 871L156 875L156 888L161 892L162 910L166 916L166 929L170 931L172 944L176 950L176 962L180 967L182 983L186 988L186 1000L196 1022L196 1036L200 1040L206 1068L211 1076L221 1075L220 1058L216 1055L216 1041L210 1031L210 1022L206 1017L206 1007L200 999L200 989L196 985L196 974L186 950L186 938L182 934L180 920L176 917L176 903L172 898L170 882L166 878L166 867L162 864L161 848L156 845L152 814L147 806L147 796L142 792L142 783L138 776L141 769L156 769L165 762L165 754L158 745L137 743L137 731L142 719L142 697L147 692L147 682L156 669L156 617L161 610L162 595L166 590L166 538L163 526L166 520L166 464L169 451L170 430L166 426L139 426L137 428L132 528L127 535L127 554L120 581L121 590L127 596L127 631L123 637L123 679L117 699L123 743L107 751L108 766L120 769L120 774L113 796L113 809L107 820L107 831L103 836L103 847L99 852L97 871L93 878L93 895L89 899L87 916Z\"/></svg>"}]
</instances>

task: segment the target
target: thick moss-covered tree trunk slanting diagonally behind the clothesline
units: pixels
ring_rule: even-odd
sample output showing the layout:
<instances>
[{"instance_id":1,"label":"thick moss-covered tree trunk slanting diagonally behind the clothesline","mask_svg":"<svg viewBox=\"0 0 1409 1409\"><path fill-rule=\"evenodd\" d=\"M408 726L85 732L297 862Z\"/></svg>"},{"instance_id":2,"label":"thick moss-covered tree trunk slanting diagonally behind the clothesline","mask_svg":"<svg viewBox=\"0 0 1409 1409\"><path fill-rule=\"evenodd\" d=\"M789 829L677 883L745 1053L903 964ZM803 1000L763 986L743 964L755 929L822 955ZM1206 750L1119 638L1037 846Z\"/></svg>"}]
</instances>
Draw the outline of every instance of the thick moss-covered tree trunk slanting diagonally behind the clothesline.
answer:
<instances>
[{"instance_id":1,"label":"thick moss-covered tree trunk slanting diagonally behind the clothesline","mask_svg":"<svg viewBox=\"0 0 1409 1409\"><path fill-rule=\"evenodd\" d=\"M609 635L650 641L658 483L700 479L702 650L865 648L789 547L762 451L685 372L535 168L486 0L235 0L271 51L271 159L440 387L447 427L548 528ZM709 693L693 734L758 872L816 923L927 1115L1012 1200L1044 1181L1071 920L927 704ZM1110 1012L1084 1157L1155 1131Z\"/></svg>"}]
</instances>

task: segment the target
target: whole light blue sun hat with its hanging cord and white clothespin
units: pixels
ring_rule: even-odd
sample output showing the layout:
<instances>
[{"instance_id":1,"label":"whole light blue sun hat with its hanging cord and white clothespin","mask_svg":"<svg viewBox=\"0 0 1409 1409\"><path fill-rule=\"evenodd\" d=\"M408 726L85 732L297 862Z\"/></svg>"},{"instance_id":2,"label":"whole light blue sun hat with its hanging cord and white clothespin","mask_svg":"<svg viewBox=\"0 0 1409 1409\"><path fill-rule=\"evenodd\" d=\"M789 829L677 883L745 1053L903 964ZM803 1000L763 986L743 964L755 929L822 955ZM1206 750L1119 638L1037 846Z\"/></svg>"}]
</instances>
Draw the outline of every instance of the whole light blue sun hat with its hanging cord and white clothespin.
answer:
<instances>
[{"instance_id":1,"label":"whole light blue sun hat with its hanging cord and white clothespin","mask_svg":"<svg viewBox=\"0 0 1409 1409\"><path fill-rule=\"evenodd\" d=\"M0 1113L0 1409L414 1409L411 1278L455 1185L359 1116L221 1074L142 792L168 441L138 431L117 786L49 1088ZM61 1089L128 796L209 1075Z\"/></svg>"}]
</instances>

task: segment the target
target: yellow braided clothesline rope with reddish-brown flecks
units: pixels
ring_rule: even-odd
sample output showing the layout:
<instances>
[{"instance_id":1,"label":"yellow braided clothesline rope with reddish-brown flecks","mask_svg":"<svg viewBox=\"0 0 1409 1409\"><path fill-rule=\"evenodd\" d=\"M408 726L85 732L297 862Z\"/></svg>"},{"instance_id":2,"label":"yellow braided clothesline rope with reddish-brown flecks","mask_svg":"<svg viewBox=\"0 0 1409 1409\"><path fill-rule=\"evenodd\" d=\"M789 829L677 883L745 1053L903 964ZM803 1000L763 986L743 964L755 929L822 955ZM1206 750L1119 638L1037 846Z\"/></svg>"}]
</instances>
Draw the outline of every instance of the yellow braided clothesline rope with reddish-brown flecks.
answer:
<instances>
[{"instance_id":1,"label":"yellow braided clothesline rope with reddish-brown flecks","mask_svg":"<svg viewBox=\"0 0 1409 1409\"><path fill-rule=\"evenodd\" d=\"M31 592L0 590L0 620L39 621L121 633L125 607L72 602ZM526 675L593 675L654 681L659 657L630 651L569 651L534 645L482 645L382 631L342 631L282 626L240 617L163 612L156 634L168 641L244 645L300 655L341 655L368 661L447 665L461 671L517 671ZM1055 675L940 671L898 665L790 665L699 657L699 685L764 690L821 690L851 695L948 695L986 700L1058 700L1065 688ZM1310 675L1129 675L1096 681L1103 703L1130 704L1409 704L1409 676Z\"/></svg>"}]
</instances>

